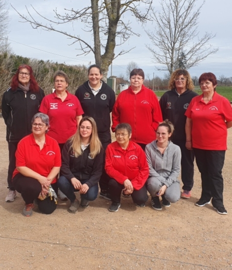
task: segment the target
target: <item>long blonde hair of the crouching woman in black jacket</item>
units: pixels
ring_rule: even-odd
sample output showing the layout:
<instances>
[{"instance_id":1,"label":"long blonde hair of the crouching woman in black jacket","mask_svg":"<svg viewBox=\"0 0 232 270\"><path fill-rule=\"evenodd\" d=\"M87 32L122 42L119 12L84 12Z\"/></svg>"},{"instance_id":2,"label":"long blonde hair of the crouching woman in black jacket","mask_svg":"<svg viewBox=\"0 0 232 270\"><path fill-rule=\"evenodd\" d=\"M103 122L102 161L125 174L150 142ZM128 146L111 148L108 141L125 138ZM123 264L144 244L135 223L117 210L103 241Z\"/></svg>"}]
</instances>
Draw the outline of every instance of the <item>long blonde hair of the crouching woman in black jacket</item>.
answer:
<instances>
[{"instance_id":1,"label":"long blonde hair of the crouching woman in black jacket","mask_svg":"<svg viewBox=\"0 0 232 270\"><path fill-rule=\"evenodd\" d=\"M85 116L81 119L76 133L70 138L70 151L74 151L75 157L83 154L83 150L81 148L80 126L84 121L89 121L92 125L92 134L90 136L90 156L91 158L95 158L95 156L100 153L102 146L97 135L96 122L92 117Z\"/></svg>"}]
</instances>

